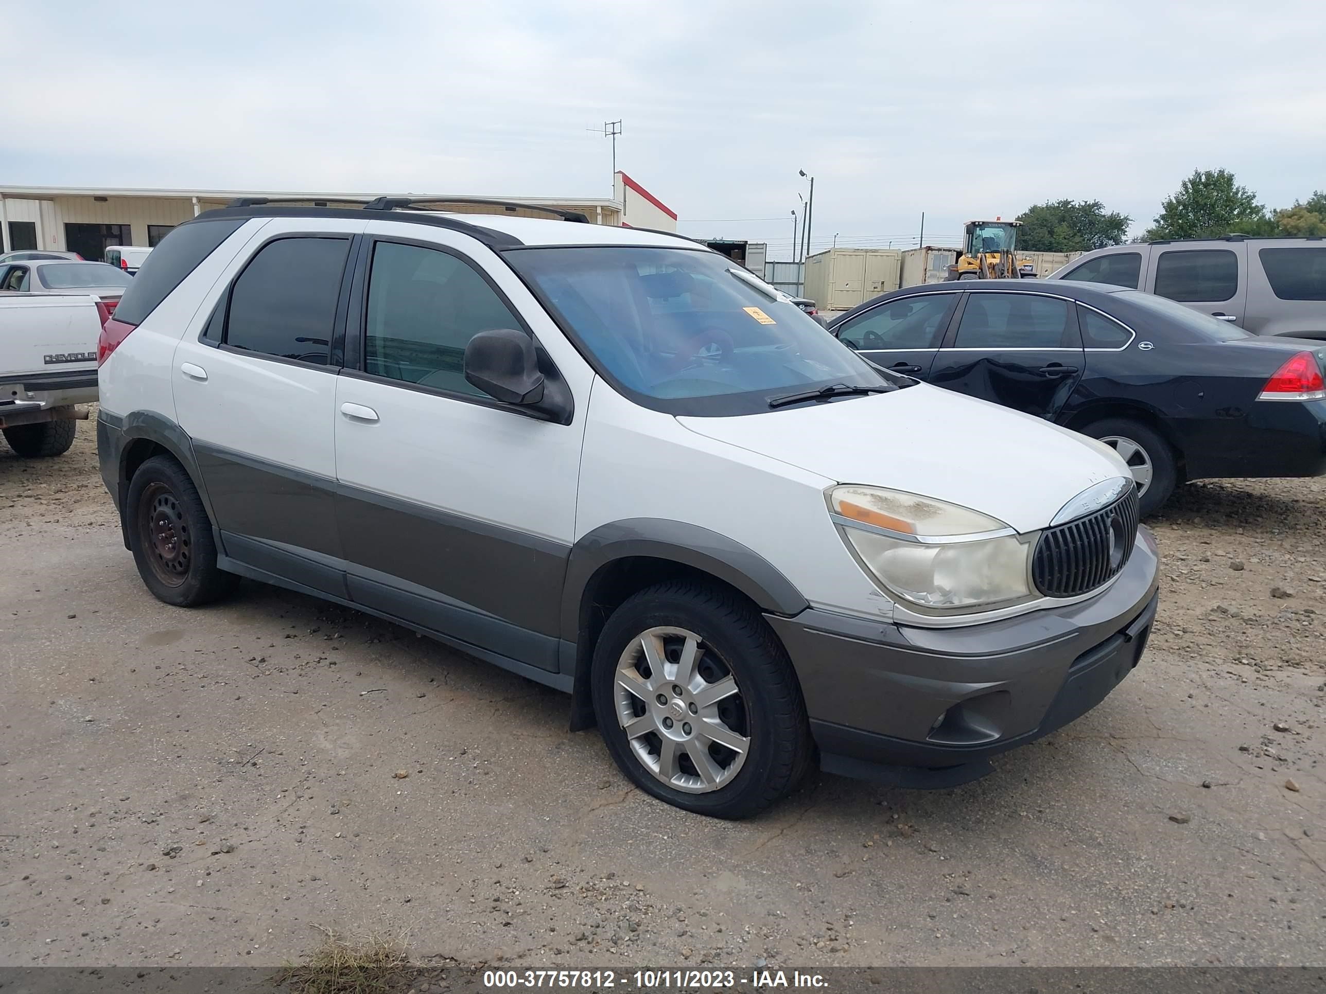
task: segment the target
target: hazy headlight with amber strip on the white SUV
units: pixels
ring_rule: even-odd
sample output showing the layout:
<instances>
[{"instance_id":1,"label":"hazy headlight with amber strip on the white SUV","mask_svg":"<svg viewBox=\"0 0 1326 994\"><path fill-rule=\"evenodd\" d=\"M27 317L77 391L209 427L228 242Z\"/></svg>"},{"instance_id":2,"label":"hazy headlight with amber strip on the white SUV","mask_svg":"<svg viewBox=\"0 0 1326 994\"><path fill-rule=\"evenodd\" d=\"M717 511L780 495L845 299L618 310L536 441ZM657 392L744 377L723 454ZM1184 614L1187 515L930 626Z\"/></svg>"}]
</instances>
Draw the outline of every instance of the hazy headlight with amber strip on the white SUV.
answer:
<instances>
[{"instance_id":1,"label":"hazy headlight with amber strip on the white SUV","mask_svg":"<svg viewBox=\"0 0 1326 994\"><path fill-rule=\"evenodd\" d=\"M829 504L866 570L903 602L931 611L988 611L1032 596L1034 541L1002 521L874 486L835 486Z\"/></svg>"}]
</instances>

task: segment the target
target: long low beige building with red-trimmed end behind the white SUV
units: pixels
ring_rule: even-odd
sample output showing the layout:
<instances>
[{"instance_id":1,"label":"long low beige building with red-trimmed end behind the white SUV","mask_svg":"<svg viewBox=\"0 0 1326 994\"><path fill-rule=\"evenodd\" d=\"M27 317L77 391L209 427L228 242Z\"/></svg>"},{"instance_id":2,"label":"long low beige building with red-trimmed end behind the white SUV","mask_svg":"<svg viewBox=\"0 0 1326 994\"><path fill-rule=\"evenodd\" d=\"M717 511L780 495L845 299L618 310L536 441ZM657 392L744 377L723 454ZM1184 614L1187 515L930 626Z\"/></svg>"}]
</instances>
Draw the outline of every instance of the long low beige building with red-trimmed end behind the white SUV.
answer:
<instances>
[{"instance_id":1,"label":"long low beige building with red-trimmed end behind the white SUV","mask_svg":"<svg viewBox=\"0 0 1326 994\"><path fill-rule=\"evenodd\" d=\"M676 231L676 213L625 172L613 178L611 197L491 196L579 211L594 224ZM392 192L392 191L385 191ZM95 187L23 187L0 184L0 252L56 249L99 260L107 245L155 245L182 221L225 207L241 196L365 200L378 193L332 193L257 190L131 190ZM418 193L428 196L432 193ZM456 196L456 193L443 195ZM457 213L514 213L546 217L537 211L508 211L484 204L448 205Z\"/></svg>"}]
</instances>

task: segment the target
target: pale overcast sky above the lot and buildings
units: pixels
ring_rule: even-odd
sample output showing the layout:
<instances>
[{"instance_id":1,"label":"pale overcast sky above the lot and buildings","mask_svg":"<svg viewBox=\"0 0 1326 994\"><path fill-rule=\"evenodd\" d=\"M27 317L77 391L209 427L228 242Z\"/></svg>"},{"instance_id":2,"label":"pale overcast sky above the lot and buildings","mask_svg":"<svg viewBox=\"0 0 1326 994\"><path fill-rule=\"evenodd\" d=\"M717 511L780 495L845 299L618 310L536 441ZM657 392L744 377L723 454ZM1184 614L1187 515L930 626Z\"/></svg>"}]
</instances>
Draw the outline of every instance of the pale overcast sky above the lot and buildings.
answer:
<instances>
[{"instance_id":1,"label":"pale overcast sky above the lot and buildings","mask_svg":"<svg viewBox=\"0 0 1326 994\"><path fill-rule=\"evenodd\" d=\"M1326 188L1322 0L0 0L0 183L609 196L788 257L1193 168ZM760 220L756 220L760 219ZM895 245L902 244L895 241Z\"/></svg>"}]
</instances>

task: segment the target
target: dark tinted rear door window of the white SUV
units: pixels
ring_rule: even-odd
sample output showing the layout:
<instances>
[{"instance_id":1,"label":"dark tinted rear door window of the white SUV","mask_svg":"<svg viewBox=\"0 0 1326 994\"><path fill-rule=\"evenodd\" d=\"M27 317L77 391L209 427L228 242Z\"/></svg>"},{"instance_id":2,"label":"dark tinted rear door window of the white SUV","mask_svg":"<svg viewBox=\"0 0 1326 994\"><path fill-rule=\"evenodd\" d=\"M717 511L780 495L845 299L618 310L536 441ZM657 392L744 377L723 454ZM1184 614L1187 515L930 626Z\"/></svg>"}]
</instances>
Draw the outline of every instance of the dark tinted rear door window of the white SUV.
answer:
<instances>
[{"instance_id":1,"label":"dark tinted rear door window of the white SUV","mask_svg":"<svg viewBox=\"0 0 1326 994\"><path fill-rule=\"evenodd\" d=\"M349 252L349 239L318 237L259 249L231 288L225 345L325 364Z\"/></svg>"}]
</instances>

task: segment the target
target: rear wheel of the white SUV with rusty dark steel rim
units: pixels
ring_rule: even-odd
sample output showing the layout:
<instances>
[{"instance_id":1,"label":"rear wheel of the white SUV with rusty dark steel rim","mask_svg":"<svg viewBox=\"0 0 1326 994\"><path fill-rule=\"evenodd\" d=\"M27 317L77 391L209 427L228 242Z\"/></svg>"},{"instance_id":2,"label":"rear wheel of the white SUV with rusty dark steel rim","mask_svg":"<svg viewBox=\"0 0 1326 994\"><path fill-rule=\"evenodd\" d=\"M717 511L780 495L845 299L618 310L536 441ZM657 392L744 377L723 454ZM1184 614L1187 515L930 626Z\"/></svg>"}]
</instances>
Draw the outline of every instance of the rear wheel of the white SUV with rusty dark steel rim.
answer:
<instances>
[{"instance_id":1,"label":"rear wheel of the white SUV with rusty dark steel rim","mask_svg":"<svg viewBox=\"0 0 1326 994\"><path fill-rule=\"evenodd\" d=\"M229 594L239 577L216 567L216 542L203 498L170 456L138 467L125 497L129 547L158 600L198 607Z\"/></svg>"}]
</instances>

